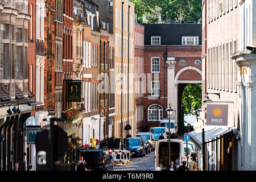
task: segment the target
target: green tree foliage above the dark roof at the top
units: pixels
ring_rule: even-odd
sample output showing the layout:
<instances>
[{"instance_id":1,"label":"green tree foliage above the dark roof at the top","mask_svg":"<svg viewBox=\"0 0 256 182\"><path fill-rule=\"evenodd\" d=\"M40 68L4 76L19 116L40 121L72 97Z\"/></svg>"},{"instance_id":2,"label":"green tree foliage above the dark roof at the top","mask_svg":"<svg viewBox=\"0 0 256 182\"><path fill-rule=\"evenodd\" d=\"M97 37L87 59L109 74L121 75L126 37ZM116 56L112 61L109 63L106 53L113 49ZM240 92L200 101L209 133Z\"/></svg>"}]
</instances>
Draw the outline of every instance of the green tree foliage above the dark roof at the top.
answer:
<instances>
[{"instance_id":1,"label":"green tree foliage above the dark roof at the top","mask_svg":"<svg viewBox=\"0 0 256 182\"><path fill-rule=\"evenodd\" d=\"M147 23L158 23L159 13L163 23L193 22L200 23L202 12L201 0L130 0L135 4L138 22L142 22L143 14Z\"/></svg>"}]
</instances>

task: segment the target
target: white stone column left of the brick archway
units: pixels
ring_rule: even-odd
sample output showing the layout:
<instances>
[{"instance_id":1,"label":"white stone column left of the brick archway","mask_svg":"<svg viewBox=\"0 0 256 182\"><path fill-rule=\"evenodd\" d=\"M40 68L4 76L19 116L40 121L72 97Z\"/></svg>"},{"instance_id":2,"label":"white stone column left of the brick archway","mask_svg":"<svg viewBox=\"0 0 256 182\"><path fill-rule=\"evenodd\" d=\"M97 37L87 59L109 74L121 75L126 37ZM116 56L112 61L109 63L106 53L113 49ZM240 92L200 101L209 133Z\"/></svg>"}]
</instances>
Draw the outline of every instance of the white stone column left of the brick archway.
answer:
<instances>
[{"instance_id":1,"label":"white stone column left of the brick archway","mask_svg":"<svg viewBox=\"0 0 256 182\"><path fill-rule=\"evenodd\" d=\"M175 80L175 57L167 57L167 107L169 107L169 104L171 104L171 108L174 110L177 110L175 107L175 97L177 91L177 86L175 86L174 80ZM177 98L176 98L177 100ZM175 112L172 112L171 117L174 117Z\"/></svg>"}]
</instances>

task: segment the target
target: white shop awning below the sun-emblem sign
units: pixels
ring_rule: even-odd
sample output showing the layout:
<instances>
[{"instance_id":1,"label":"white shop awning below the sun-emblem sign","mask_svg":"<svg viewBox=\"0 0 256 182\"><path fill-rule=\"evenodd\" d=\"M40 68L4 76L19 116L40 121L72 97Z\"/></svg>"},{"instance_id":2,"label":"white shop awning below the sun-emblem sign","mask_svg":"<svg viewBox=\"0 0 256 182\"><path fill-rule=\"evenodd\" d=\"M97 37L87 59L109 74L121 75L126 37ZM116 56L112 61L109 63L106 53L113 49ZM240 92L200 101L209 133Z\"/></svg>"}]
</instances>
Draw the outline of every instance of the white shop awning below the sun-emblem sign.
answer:
<instances>
[{"instance_id":1,"label":"white shop awning below the sun-emblem sign","mask_svg":"<svg viewBox=\"0 0 256 182\"><path fill-rule=\"evenodd\" d=\"M207 142L210 139L219 137L221 135L228 134L230 132L232 132L232 130L225 126L205 126L204 127L205 142ZM203 130L202 128L200 128L200 129L189 132L188 135L191 137L192 142L194 142L198 146L201 146L201 144L203 143L202 133L203 133Z\"/></svg>"}]
</instances>

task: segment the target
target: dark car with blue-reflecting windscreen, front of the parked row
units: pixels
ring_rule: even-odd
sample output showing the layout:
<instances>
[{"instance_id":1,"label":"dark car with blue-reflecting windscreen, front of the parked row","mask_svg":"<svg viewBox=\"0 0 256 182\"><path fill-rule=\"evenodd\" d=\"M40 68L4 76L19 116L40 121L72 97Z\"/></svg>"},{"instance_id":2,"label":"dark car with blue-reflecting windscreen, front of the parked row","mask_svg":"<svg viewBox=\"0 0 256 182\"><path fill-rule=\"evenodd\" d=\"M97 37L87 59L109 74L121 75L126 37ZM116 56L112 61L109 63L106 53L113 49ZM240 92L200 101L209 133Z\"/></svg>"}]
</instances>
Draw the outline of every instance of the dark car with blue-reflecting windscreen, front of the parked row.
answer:
<instances>
[{"instance_id":1,"label":"dark car with blue-reflecting windscreen, front of the parked row","mask_svg":"<svg viewBox=\"0 0 256 182\"><path fill-rule=\"evenodd\" d=\"M131 151L131 156L146 156L142 137L132 137L125 140L124 148Z\"/></svg>"}]
</instances>

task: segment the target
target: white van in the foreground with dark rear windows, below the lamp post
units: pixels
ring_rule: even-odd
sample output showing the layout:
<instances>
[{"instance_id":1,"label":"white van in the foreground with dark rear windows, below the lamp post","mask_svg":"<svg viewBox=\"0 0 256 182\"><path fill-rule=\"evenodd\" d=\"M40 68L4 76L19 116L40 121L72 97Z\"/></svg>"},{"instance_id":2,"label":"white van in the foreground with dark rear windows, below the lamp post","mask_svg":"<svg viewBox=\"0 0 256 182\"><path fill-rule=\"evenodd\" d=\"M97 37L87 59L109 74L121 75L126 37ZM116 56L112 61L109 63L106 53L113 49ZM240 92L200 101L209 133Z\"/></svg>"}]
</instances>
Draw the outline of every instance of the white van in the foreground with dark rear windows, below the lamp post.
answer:
<instances>
[{"instance_id":1,"label":"white van in the foreground with dark rear windows, below the lamp post","mask_svg":"<svg viewBox=\"0 0 256 182\"><path fill-rule=\"evenodd\" d=\"M169 161L169 140L163 139L155 143L155 170L161 171L167 169ZM182 162L187 158L184 152L183 140L180 139L170 139L171 144L171 161L177 165L177 168L182 165Z\"/></svg>"}]
</instances>

